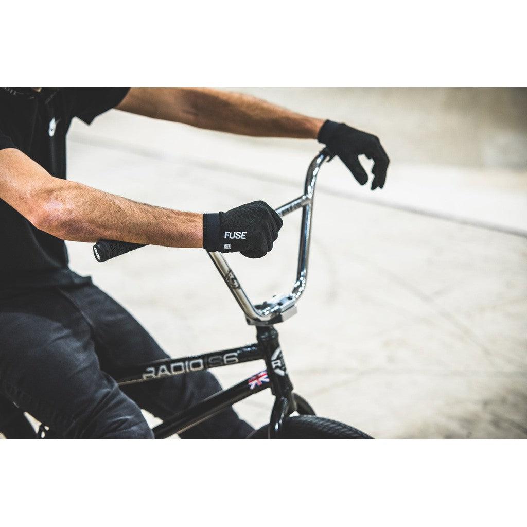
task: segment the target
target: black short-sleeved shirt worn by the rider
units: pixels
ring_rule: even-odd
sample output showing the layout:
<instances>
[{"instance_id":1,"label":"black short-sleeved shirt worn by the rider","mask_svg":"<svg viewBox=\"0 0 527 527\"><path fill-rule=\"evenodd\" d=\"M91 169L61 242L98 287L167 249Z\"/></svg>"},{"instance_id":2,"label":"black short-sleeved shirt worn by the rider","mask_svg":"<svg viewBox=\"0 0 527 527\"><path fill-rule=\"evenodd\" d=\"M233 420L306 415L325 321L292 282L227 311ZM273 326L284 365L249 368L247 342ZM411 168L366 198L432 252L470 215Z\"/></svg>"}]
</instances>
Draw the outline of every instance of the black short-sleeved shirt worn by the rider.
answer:
<instances>
[{"instance_id":1,"label":"black short-sleeved shirt worn by the rider","mask_svg":"<svg viewBox=\"0 0 527 527\"><path fill-rule=\"evenodd\" d=\"M0 150L16 148L66 179L66 133L74 117L90 124L128 88L0 89ZM63 240L36 229L0 199L0 296L19 289L89 280L68 268Z\"/></svg>"}]
</instances>

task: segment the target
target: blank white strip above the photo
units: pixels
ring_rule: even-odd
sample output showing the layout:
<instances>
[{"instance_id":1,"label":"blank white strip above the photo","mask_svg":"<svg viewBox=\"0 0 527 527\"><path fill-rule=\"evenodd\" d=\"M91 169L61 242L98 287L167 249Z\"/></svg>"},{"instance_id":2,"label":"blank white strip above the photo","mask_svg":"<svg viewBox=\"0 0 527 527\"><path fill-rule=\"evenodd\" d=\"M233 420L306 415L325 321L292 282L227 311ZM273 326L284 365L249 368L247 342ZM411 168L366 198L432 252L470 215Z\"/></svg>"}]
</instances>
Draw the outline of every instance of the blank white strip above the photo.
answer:
<instances>
[{"instance_id":1,"label":"blank white strip above the photo","mask_svg":"<svg viewBox=\"0 0 527 527\"><path fill-rule=\"evenodd\" d=\"M26 1L2 20L21 85L525 85L510 0Z\"/></svg>"}]
</instances>

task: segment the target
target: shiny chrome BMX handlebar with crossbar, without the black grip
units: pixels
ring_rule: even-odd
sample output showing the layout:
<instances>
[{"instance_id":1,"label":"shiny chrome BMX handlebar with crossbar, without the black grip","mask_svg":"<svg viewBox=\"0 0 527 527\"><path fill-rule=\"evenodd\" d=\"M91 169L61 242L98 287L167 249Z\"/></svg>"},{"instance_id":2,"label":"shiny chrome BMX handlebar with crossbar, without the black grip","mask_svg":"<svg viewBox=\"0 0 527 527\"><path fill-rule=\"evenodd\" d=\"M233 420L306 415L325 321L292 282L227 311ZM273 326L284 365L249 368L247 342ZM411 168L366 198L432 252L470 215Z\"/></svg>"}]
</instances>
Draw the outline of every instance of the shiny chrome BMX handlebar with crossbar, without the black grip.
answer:
<instances>
[{"instance_id":1,"label":"shiny chrome BMX handlebar with crossbar, without the black grip","mask_svg":"<svg viewBox=\"0 0 527 527\"><path fill-rule=\"evenodd\" d=\"M277 324L296 313L296 303L306 289L307 283L309 243L311 239L311 218L313 217L313 198L315 195L317 174L320 170L321 164L331 157L333 157L333 155L327 148L321 150L313 161L311 161L309 168L307 169L304 194L276 209L277 214L284 217L287 216L287 214L302 208L297 279L289 294L280 297L274 296L260 305L252 304L222 253L208 253L223 280L225 280L232 295L236 298L238 305L245 314L248 324L255 326Z\"/></svg>"}]
</instances>

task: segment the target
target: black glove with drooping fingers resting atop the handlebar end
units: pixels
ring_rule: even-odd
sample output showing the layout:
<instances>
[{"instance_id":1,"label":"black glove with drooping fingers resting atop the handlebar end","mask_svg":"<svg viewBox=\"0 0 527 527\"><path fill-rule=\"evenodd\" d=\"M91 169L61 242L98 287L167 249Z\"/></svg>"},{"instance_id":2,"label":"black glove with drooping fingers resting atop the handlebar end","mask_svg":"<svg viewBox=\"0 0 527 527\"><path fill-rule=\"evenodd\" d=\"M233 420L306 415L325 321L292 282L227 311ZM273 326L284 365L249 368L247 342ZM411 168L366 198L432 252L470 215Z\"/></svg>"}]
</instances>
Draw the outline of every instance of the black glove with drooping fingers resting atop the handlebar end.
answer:
<instances>
[{"instance_id":1,"label":"black glove with drooping fingers resting atop the handlebar end","mask_svg":"<svg viewBox=\"0 0 527 527\"><path fill-rule=\"evenodd\" d=\"M365 154L368 159L373 159L372 173L375 177L372 181L372 190L384 187L390 160L375 135L361 132L344 123L326 121L318 132L317 140L325 144L331 153L338 155L361 185L368 182L368 175L358 157L360 154Z\"/></svg>"}]
</instances>

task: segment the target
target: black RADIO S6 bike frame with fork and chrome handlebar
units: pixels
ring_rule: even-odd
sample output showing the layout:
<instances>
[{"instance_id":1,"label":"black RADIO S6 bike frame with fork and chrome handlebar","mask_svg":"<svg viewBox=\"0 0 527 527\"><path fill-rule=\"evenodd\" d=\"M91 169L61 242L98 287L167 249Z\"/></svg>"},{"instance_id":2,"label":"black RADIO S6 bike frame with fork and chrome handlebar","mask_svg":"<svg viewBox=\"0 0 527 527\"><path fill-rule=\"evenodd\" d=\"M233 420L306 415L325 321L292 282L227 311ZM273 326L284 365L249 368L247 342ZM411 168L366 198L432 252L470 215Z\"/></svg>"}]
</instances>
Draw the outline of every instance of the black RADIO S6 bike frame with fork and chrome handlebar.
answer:
<instances>
[{"instance_id":1,"label":"black RADIO S6 bike frame with fork and chrome handlebar","mask_svg":"<svg viewBox=\"0 0 527 527\"><path fill-rule=\"evenodd\" d=\"M164 379L174 375L191 375L193 372L200 372L205 369L253 360L264 360L266 369L228 389L207 397L200 403L165 419L161 424L155 426L153 428L155 438L162 439L189 430L189 428L206 421L225 408L267 388L270 388L275 396L268 437L280 437L284 419L293 412L315 415L313 408L302 397L293 392L284 354L278 340L278 331L274 326L296 314L296 304L306 288L315 183L320 165L332 157L333 154L327 148L321 150L309 165L304 194L276 209L276 212L282 217L297 209L302 209L297 277L290 292L286 295L275 295L262 304L254 305L247 297L225 257L220 252L209 252L214 265L245 314L247 323L256 326L256 343L202 355L157 360L113 373L118 384L125 386L132 383L153 382L156 379Z\"/></svg>"}]
</instances>

